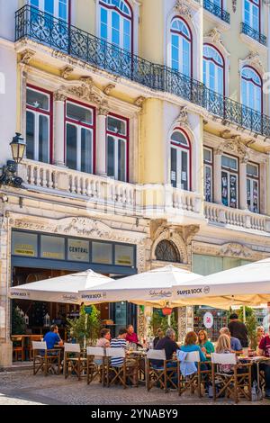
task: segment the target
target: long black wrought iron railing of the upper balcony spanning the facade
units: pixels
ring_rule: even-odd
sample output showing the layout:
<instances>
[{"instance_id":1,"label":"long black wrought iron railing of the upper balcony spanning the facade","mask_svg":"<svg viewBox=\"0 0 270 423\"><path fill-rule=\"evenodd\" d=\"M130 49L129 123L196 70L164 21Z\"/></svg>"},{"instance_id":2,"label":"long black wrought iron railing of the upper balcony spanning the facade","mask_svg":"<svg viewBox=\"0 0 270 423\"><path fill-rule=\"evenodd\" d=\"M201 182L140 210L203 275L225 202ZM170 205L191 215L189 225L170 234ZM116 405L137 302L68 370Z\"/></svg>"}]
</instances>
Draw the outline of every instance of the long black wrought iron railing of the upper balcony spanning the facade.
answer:
<instances>
[{"instance_id":1,"label":"long black wrought iron railing of the upper balcony spanning the facade","mask_svg":"<svg viewBox=\"0 0 270 423\"><path fill-rule=\"evenodd\" d=\"M29 38L153 90L175 94L223 121L270 137L270 118L208 89L180 72L151 63L29 5L16 12L15 40Z\"/></svg>"}]
</instances>

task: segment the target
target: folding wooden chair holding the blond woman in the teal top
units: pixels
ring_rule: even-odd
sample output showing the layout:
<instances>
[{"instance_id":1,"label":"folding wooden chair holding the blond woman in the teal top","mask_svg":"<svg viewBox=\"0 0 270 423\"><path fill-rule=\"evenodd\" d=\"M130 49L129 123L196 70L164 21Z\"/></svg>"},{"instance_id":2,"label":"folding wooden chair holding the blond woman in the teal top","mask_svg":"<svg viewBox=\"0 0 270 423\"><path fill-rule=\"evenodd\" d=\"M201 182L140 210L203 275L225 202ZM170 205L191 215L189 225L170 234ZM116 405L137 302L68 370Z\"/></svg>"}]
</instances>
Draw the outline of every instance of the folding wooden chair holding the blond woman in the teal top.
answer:
<instances>
[{"instance_id":1,"label":"folding wooden chair holding the blond woman in the teal top","mask_svg":"<svg viewBox=\"0 0 270 423\"><path fill-rule=\"evenodd\" d=\"M181 373L181 363L196 365L197 371L193 374L184 376ZM206 362L205 362L206 363ZM201 358L199 351L187 353L184 361L181 362L177 356L177 375L178 375L178 393L182 395L186 391L194 393L198 391L198 395L202 397L202 384L205 384L205 378L211 376L211 369L202 370ZM204 376L204 377L203 377Z\"/></svg>"}]
</instances>

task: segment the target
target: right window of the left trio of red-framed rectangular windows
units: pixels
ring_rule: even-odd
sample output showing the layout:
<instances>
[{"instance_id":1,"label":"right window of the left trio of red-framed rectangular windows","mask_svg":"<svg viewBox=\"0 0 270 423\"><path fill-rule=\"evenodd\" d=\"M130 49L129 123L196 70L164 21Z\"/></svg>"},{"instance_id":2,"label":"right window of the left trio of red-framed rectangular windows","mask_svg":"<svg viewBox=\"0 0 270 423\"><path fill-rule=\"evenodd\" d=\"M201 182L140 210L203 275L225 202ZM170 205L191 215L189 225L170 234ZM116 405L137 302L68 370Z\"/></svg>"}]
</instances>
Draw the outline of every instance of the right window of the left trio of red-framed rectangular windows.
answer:
<instances>
[{"instance_id":1,"label":"right window of the left trio of red-framed rectangular windows","mask_svg":"<svg viewBox=\"0 0 270 423\"><path fill-rule=\"evenodd\" d=\"M107 118L107 175L126 182L129 156L129 121L109 115Z\"/></svg>"}]
</instances>

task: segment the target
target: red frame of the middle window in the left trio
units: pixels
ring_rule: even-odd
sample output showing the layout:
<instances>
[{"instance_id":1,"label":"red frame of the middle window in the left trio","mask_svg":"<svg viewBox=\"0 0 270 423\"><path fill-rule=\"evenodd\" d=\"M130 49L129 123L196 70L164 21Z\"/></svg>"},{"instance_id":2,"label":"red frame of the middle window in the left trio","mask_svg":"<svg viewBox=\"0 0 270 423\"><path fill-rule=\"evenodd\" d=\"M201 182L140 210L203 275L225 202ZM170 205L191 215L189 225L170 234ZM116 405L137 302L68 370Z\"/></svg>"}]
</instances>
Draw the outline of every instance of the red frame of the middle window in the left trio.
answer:
<instances>
[{"instance_id":1,"label":"red frame of the middle window in the left trio","mask_svg":"<svg viewBox=\"0 0 270 423\"><path fill-rule=\"evenodd\" d=\"M89 125L87 123L78 122L74 119L67 117L67 103L74 103L79 106L83 106L86 109L91 109L93 111L93 125ZM95 166L96 166L96 109L94 106L90 104L86 104L83 102L79 102L74 100L73 98L68 97L65 101L65 139L64 139L64 157L65 157L65 164L67 164L67 122L75 123L76 125L79 124L80 126L93 130L93 175L95 175ZM79 170L77 172L80 172Z\"/></svg>"}]
</instances>

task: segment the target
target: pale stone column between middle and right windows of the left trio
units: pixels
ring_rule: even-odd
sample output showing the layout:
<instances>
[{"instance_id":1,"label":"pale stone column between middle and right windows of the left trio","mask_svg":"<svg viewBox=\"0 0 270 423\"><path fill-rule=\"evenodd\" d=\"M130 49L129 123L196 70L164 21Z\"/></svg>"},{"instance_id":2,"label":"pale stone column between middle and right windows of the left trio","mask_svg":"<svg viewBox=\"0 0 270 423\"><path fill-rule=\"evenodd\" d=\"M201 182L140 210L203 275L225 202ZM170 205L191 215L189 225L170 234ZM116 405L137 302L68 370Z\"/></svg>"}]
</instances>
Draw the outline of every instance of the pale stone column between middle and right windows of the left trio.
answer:
<instances>
[{"instance_id":1,"label":"pale stone column between middle and right windows of the left trio","mask_svg":"<svg viewBox=\"0 0 270 423\"><path fill-rule=\"evenodd\" d=\"M106 166L106 124L109 111L100 107L97 112L96 120L96 175L107 176Z\"/></svg>"}]
</instances>

